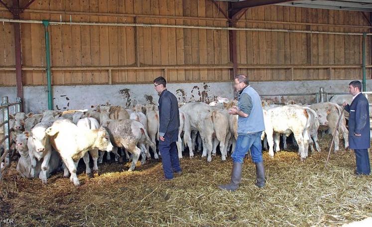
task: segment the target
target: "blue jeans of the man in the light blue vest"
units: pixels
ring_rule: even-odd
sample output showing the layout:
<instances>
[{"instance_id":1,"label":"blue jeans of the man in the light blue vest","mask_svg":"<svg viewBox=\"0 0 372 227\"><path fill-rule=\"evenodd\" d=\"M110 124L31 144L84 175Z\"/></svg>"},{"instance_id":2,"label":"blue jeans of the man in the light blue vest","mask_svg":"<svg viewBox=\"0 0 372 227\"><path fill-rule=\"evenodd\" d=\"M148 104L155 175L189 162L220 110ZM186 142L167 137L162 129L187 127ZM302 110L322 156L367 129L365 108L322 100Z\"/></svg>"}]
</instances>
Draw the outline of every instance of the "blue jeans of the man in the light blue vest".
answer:
<instances>
[{"instance_id":1,"label":"blue jeans of the man in the light blue vest","mask_svg":"<svg viewBox=\"0 0 372 227\"><path fill-rule=\"evenodd\" d=\"M254 163L262 162L262 132L239 134L234 153L231 155L234 162L243 163L244 157L250 148L250 156Z\"/></svg>"}]
</instances>

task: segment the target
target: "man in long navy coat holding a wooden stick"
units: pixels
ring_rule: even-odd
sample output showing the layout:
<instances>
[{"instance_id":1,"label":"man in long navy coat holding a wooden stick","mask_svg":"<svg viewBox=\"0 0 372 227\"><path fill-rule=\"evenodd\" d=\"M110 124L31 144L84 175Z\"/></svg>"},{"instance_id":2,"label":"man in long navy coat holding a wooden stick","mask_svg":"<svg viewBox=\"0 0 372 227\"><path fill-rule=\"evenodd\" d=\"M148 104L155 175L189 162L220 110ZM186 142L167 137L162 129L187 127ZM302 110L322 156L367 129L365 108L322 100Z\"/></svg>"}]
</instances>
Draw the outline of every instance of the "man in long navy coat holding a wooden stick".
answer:
<instances>
[{"instance_id":1,"label":"man in long navy coat holding a wooden stick","mask_svg":"<svg viewBox=\"0 0 372 227\"><path fill-rule=\"evenodd\" d=\"M349 92L353 101L344 103L349 116L349 147L354 149L357 162L356 175L370 175L370 111L367 98L362 94L362 83L354 80L349 84Z\"/></svg>"}]
</instances>

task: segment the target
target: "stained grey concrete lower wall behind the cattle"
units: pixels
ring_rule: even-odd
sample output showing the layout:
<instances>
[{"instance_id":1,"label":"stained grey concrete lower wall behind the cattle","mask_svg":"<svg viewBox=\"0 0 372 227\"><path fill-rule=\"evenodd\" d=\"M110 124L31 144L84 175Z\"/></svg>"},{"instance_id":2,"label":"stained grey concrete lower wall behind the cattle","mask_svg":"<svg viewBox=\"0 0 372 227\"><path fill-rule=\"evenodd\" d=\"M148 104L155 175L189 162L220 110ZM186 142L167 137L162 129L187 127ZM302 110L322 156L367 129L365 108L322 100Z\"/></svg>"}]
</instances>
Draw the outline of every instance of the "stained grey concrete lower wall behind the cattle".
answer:
<instances>
[{"instance_id":1,"label":"stained grey concrete lower wall behind the cattle","mask_svg":"<svg viewBox=\"0 0 372 227\"><path fill-rule=\"evenodd\" d=\"M316 93L323 87L326 92L348 92L350 80L304 80L292 81L260 81L251 82L250 85L260 95L289 94L289 93ZM217 96L234 98L232 82L210 83L172 83L168 89L173 92L179 101L215 101ZM372 80L367 80L367 89L372 90ZM40 113L47 109L46 86L24 87L24 111ZM9 102L15 102L16 88L2 87L0 97L8 96ZM350 96L350 95L349 95ZM77 85L53 87L53 107L56 110L89 109L92 105L101 105L109 102L112 105L132 107L140 103L158 104L159 96L152 84L123 84L123 85ZM278 102L278 96L265 97ZM351 98L351 96L350 96ZM301 103L315 102L315 95L285 96L281 101L295 100ZM1 116L0 116L1 117Z\"/></svg>"}]
</instances>

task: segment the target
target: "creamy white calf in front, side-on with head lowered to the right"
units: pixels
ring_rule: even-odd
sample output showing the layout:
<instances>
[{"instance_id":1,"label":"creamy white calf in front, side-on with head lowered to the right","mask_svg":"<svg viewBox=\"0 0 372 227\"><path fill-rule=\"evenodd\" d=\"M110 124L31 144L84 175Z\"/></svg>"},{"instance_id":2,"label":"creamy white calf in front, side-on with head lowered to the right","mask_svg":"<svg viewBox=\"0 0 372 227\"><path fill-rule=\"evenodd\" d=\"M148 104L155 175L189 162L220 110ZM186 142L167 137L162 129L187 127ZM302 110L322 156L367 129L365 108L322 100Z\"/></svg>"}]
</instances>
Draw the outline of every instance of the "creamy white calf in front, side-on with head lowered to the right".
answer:
<instances>
[{"instance_id":1,"label":"creamy white calf in front, side-on with head lowered to the right","mask_svg":"<svg viewBox=\"0 0 372 227\"><path fill-rule=\"evenodd\" d=\"M46 134L50 137L50 142L55 150L59 153L67 169L71 174L70 181L75 186L80 185L76 175L76 167L79 160L84 155L94 149L102 151L112 151L113 145L110 142L109 133L104 129L86 129L78 127L71 120L60 119L46 129ZM67 168L67 169L66 169Z\"/></svg>"}]
</instances>

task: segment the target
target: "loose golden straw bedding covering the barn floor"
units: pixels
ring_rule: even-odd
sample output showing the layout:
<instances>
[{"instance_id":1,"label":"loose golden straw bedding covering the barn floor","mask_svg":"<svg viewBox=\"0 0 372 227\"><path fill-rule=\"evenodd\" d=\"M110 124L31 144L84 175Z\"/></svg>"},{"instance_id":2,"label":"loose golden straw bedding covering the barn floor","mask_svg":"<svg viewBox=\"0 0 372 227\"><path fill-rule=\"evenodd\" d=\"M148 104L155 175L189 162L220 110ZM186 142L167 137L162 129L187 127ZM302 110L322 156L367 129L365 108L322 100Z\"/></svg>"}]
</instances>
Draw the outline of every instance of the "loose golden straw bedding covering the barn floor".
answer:
<instances>
[{"instance_id":1,"label":"loose golden straw bedding covering the barn floor","mask_svg":"<svg viewBox=\"0 0 372 227\"><path fill-rule=\"evenodd\" d=\"M207 163L198 154L181 160L183 175L162 182L161 163L128 166L105 163L100 176L87 178L84 164L75 187L59 172L42 185L19 178L13 168L0 190L0 218L16 226L341 226L372 216L372 177L355 177L353 151L331 154L331 137L321 139L322 153L299 161L296 152L270 158L264 152L266 186L254 186L254 164L245 160L237 192L217 185L230 179L232 161L220 156ZM293 148L292 148L293 150Z\"/></svg>"}]
</instances>

